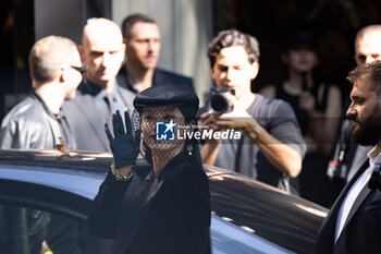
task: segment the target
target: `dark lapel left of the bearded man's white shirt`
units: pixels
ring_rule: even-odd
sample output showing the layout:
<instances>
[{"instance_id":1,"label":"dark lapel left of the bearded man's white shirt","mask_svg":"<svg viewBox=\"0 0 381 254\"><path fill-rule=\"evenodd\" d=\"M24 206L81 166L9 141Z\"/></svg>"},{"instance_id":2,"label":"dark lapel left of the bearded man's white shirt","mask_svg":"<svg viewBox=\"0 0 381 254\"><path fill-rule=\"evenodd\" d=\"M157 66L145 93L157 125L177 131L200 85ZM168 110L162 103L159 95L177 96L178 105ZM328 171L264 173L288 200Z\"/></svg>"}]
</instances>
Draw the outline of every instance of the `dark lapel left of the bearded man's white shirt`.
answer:
<instances>
[{"instance_id":1,"label":"dark lapel left of the bearded man's white shirt","mask_svg":"<svg viewBox=\"0 0 381 254\"><path fill-rule=\"evenodd\" d=\"M356 174L349 183L344 188L337 199L332 205L327 219L322 223L318 237L317 242L317 253L331 253L334 247L334 232L336 228L336 219L340 207L343 204L345 196L351 190L352 185L356 182L356 180L361 176L361 173L369 167L369 161L367 160L359 170L357 170ZM357 201L357 199L356 199Z\"/></svg>"}]
</instances>

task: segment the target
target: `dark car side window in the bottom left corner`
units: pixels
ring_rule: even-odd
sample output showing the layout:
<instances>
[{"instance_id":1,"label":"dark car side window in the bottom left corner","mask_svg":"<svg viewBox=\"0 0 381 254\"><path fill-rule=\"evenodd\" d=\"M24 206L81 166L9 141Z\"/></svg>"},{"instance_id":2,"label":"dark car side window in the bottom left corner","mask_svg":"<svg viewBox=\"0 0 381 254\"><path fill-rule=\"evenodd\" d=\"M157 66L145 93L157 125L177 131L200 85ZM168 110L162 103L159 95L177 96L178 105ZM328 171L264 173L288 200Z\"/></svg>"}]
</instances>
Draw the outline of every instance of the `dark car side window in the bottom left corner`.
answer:
<instances>
[{"instance_id":1,"label":"dark car side window in the bottom left corner","mask_svg":"<svg viewBox=\"0 0 381 254\"><path fill-rule=\"evenodd\" d=\"M85 222L27 207L0 206L0 253L108 254L111 240L89 234Z\"/></svg>"}]
</instances>

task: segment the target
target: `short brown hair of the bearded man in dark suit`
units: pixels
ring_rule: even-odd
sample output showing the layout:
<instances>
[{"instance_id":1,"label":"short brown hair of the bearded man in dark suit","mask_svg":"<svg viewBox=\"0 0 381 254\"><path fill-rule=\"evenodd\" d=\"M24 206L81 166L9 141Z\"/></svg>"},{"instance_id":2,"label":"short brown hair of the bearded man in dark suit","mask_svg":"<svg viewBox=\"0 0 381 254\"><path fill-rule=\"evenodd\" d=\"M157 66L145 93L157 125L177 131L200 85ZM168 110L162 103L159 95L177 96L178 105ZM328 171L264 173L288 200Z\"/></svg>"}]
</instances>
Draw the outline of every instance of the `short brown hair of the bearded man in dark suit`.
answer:
<instances>
[{"instance_id":1,"label":"short brown hair of the bearded man in dark suit","mask_svg":"<svg viewBox=\"0 0 381 254\"><path fill-rule=\"evenodd\" d=\"M372 88L378 95L381 95L381 61L378 60L365 66L357 66L349 72L346 78L352 84L359 80L369 80L372 82Z\"/></svg>"}]
</instances>

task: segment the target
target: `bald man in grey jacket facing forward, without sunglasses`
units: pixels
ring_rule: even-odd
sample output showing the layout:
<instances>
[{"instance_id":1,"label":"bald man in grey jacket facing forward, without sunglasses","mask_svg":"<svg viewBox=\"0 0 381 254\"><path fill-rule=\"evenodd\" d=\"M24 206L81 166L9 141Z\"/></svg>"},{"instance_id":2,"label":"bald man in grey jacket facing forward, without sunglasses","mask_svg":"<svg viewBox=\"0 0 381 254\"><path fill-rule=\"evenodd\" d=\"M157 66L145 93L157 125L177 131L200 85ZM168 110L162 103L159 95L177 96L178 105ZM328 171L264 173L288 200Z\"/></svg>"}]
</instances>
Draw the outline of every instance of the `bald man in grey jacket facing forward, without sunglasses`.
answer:
<instances>
[{"instance_id":1,"label":"bald man in grey jacket facing forward, without sunglasses","mask_svg":"<svg viewBox=\"0 0 381 254\"><path fill-rule=\"evenodd\" d=\"M84 27L79 52L86 74L76 98L63 109L77 150L110 152L105 123L111 123L115 110L132 112L135 97L116 82L125 52L121 29L106 19L90 21Z\"/></svg>"}]
</instances>

